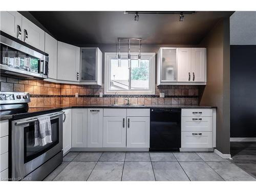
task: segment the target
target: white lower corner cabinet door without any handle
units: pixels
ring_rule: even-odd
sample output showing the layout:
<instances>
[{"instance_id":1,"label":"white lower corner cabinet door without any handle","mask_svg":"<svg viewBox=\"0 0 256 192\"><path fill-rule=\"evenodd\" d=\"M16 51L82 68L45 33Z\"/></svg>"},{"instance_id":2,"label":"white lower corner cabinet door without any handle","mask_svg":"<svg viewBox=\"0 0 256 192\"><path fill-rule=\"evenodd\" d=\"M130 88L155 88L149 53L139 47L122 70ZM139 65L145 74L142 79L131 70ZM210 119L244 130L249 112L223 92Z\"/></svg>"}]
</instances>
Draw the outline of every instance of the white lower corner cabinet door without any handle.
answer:
<instances>
[{"instance_id":1,"label":"white lower corner cabinet door without any handle","mask_svg":"<svg viewBox=\"0 0 256 192\"><path fill-rule=\"evenodd\" d=\"M87 147L87 109L72 109L72 147Z\"/></svg>"}]
</instances>

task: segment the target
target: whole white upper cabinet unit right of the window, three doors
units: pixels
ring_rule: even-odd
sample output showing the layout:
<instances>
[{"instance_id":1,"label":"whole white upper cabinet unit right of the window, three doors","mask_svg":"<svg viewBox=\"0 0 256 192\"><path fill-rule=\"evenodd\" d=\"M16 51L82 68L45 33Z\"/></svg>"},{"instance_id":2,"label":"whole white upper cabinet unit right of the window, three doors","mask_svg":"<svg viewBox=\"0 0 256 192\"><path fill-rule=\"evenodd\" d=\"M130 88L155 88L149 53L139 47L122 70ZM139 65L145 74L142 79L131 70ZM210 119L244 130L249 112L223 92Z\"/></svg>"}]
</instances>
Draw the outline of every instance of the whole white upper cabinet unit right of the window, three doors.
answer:
<instances>
[{"instance_id":1,"label":"whole white upper cabinet unit right of the window, three doors","mask_svg":"<svg viewBox=\"0 0 256 192\"><path fill-rule=\"evenodd\" d=\"M206 84L205 48L160 48L157 85Z\"/></svg>"}]
</instances>

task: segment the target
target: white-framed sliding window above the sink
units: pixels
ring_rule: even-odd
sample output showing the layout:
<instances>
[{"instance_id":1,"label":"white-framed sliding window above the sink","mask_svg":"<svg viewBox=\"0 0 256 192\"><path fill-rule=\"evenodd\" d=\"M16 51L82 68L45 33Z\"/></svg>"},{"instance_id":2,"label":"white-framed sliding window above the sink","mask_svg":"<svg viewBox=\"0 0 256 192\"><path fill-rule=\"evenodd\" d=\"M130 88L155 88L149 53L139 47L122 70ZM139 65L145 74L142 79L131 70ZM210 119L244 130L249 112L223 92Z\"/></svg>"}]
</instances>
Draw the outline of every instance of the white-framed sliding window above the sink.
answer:
<instances>
[{"instance_id":1,"label":"white-framed sliding window above the sink","mask_svg":"<svg viewBox=\"0 0 256 192\"><path fill-rule=\"evenodd\" d=\"M155 53L121 53L120 65L116 53L105 53L105 94L155 94Z\"/></svg>"}]
</instances>

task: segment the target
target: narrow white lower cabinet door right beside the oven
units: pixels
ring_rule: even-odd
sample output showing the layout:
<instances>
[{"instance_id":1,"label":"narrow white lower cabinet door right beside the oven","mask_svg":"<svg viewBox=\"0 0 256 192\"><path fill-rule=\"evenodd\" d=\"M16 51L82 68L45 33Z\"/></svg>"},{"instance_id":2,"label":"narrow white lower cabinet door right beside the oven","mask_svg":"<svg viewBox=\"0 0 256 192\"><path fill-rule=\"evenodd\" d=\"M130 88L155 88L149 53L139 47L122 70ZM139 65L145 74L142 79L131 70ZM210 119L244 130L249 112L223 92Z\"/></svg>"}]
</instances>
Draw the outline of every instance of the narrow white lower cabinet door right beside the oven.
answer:
<instances>
[{"instance_id":1,"label":"narrow white lower cabinet door right beside the oven","mask_svg":"<svg viewBox=\"0 0 256 192\"><path fill-rule=\"evenodd\" d=\"M72 147L72 109L63 110L63 155L67 154Z\"/></svg>"}]
</instances>

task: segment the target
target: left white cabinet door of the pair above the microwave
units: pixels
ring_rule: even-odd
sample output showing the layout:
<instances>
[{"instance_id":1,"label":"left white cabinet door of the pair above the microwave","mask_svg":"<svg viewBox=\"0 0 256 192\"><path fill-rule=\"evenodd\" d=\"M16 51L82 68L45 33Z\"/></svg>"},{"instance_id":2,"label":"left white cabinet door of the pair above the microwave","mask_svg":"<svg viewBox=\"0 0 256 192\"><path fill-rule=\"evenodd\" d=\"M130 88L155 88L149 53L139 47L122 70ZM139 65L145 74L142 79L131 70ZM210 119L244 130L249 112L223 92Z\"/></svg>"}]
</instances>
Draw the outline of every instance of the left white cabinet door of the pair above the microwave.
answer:
<instances>
[{"instance_id":1,"label":"left white cabinet door of the pair above the microwave","mask_svg":"<svg viewBox=\"0 0 256 192\"><path fill-rule=\"evenodd\" d=\"M22 15L17 11L1 11L1 31L18 38L22 39Z\"/></svg>"}]
</instances>

